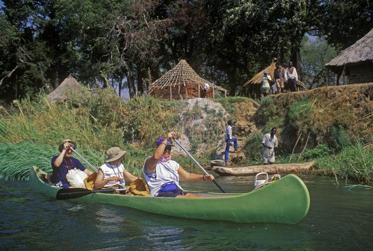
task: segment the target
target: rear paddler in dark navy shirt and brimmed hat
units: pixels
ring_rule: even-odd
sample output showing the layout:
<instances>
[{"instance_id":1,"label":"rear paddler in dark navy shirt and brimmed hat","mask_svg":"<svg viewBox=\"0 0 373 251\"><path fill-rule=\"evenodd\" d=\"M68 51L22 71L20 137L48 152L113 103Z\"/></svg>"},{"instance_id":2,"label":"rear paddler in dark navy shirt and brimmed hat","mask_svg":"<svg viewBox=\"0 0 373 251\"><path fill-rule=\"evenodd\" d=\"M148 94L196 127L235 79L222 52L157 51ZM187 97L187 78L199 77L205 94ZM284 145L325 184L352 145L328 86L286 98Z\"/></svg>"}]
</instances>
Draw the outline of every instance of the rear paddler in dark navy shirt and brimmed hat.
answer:
<instances>
[{"instance_id":1,"label":"rear paddler in dark navy shirt and brimmed hat","mask_svg":"<svg viewBox=\"0 0 373 251\"><path fill-rule=\"evenodd\" d=\"M71 156L73 154L71 148L77 148L77 143L71 139L64 139L58 146L60 154L52 158L51 164L53 172L50 181L57 187L72 187L66 179L66 174L68 174L71 169L77 168L87 173L87 175L92 174L92 171L86 169L78 159Z\"/></svg>"}]
</instances>

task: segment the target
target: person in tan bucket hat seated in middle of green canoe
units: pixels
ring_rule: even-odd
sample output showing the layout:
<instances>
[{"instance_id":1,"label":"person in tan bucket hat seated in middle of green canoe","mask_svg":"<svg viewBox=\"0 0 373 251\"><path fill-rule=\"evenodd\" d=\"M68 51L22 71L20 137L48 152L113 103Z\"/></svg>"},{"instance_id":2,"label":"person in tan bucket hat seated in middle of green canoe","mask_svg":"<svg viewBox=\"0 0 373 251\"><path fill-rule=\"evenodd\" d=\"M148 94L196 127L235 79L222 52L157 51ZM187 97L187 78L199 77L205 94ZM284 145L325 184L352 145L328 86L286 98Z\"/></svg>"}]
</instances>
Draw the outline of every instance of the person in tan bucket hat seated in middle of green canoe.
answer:
<instances>
[{"instance_id":1,"label":"person in tan bucket hat seated in middle of green canoe","mask_svg":"<svg viewBox=\"0 0 373 251\"><path fill-rule=\"evenodd\" d=\"M124 180L132 182L137 179L122 164L126 151L122 151L119 147L111 147L106 153L105 164L98 168L94 189L118 189L119 186L124 187Z\"/></svg>"}]
</instances>

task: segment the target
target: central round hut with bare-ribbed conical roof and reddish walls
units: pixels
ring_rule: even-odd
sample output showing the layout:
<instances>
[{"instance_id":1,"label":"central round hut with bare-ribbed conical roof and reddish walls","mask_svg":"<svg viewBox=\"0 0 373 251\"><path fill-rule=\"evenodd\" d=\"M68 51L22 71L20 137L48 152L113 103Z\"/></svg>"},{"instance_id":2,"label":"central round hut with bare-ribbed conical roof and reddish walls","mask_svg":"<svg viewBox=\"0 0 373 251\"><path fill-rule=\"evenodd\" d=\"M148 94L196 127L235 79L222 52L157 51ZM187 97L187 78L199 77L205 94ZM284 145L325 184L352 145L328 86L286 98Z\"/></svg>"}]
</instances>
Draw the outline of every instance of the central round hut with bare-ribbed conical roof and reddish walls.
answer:
<instances>
[{"instance_id":1,"label":"central round hut with bare-ribbed conical roof and reddish walls","mask_svg":"<svg viewBox=\"0 0 373 251\"><path fill-rule=\"evenodd\" d=\"M216 90L227 95L228 90L199 77L183 59L149 86L150 95L170 100L214 98Z\"/></svg>"}]
</instances>

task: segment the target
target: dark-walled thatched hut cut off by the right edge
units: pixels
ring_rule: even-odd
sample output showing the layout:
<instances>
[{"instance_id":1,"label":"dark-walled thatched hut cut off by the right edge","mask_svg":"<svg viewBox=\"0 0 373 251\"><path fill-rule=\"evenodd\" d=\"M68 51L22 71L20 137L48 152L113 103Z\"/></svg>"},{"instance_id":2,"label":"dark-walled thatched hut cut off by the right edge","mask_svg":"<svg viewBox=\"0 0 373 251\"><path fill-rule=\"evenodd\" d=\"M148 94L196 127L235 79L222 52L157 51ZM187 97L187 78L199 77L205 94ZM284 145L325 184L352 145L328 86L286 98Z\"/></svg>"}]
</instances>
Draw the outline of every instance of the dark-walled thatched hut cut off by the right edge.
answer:
<instances>
[{"instance_id":1,"label":"dark-walled thatched hut cut off by the right edge","mask_svg":"<svg viewBox=\"0 0 373 251\"><path fill-rule=\"evenodd\" d=\"M373 29L325 67L336 73L338 80L341 75L348 76L350 84L373 82Z\"/></svg>"}]
</instances>

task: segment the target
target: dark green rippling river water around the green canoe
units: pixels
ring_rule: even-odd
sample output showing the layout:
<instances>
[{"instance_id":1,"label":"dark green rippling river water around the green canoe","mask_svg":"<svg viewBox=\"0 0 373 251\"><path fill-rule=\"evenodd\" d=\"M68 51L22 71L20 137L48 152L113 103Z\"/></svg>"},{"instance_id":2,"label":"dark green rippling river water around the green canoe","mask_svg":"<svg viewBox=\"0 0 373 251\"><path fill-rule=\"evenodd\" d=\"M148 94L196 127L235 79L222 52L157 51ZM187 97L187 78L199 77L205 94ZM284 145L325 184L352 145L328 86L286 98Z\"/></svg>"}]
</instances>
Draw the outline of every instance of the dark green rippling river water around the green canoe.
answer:
<instances>
[{"instance_id":1,"label":"dark green rippling river water around the green canoe","mask_svg":"<svg viewBox=\"0 0 373 251\"><path fill-rule=\"evenodd\" d=\"M373 190L348 190L328 177L301 176L310 193L297 225L179 219L104 204L56 201L27 181L0 180L0 250L294 250L373 251ZM227 192L253 177L217 177ZM185 189L218 191L212 182Z\"/></svg>"}]
</instances>

